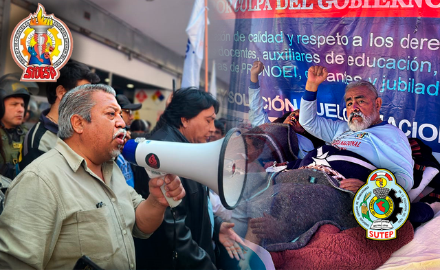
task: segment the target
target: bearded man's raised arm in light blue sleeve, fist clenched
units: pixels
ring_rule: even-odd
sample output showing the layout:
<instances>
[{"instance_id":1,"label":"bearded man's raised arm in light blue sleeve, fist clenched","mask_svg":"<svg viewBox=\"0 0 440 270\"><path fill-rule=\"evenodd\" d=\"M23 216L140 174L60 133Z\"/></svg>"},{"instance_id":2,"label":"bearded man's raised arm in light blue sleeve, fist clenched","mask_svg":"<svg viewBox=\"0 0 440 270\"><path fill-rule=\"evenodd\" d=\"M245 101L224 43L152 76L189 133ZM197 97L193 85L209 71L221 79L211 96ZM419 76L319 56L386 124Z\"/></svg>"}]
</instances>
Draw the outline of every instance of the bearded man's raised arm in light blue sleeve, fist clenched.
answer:
<instances>
[{"instance_id":1,"label":"bearded man's raised arm in light blue sleeve, fist clenched","mask_svg":"<svg viewBox=\"0 0 440 270\"><path fill-rule=\"evenodd\" d=\"M311 135L331 142L333 137L348 130L347 122L330 120L325 117L318 117L316 94L318 86L327 78L328 72L325 67L310 67L307 78L306 91L300 104L300 124Z\"/></svg>"}]
</instances>

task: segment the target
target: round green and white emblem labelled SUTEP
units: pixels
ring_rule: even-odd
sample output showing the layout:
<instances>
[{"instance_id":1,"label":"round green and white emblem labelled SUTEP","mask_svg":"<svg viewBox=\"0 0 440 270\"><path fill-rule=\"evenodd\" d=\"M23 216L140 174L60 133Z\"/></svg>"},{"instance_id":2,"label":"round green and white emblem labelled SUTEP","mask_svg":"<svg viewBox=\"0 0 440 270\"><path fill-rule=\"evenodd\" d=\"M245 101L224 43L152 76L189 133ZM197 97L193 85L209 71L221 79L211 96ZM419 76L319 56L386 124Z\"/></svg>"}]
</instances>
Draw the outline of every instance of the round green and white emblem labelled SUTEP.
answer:
<instances>
[{"instance_id":1,"label":"round green and white emblem labelled SUTEP","mask_svg":"<svg viewBox=\"0 0 440 270\"><path fill-rule=\"evenodd\" d=\"M409 211L408 194L397 184L393 173L385 169L371 172L353 200L356 221L366 229L366 238L374 240L396 238Z\"/></svg>"}]
</instances>

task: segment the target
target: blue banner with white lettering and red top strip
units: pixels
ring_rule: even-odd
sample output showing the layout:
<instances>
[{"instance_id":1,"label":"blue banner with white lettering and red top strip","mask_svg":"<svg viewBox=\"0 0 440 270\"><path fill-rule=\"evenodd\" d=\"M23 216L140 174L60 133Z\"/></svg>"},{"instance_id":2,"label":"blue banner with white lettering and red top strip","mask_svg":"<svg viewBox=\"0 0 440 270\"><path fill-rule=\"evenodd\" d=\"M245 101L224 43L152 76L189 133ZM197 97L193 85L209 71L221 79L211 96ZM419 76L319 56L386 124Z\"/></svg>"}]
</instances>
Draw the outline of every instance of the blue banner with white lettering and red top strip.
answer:
<instances>
[{"instance_id":1,"label":"blue banner with white lettering and red top strip","mask_svg":"<svg viewBox=\"0 0 440 270\"><path fill-rule=\"evenodd\" d=\"M405 5L412 8L402 8L403 2L389 1L399 7L348 10L353 1L344 13L335 6L347 1L329 1L327 6L333 6L328 9L322 1L312 2L303 1L295 10L280 0L249 1L247 8L241 5L245 1L230 1L230 10L223 10L225 16L231 15L228 11L235 15L230 19L234 32L223 33L217 52L219 58L230 59L227 67L217 69L230 72L230 114L249 111L250 68L255 60L264 65L259 82L270 117L299 108L307 69L322 65L329 76L318 89L319 115L345 120L344 87L353 80L369 80L383 99L383 120L440 152L439 7L430 1L409 1ZM217 11L222 12L221 5ZM232 46L225 45L228 42Z\"/></svg>"}]
</instances>

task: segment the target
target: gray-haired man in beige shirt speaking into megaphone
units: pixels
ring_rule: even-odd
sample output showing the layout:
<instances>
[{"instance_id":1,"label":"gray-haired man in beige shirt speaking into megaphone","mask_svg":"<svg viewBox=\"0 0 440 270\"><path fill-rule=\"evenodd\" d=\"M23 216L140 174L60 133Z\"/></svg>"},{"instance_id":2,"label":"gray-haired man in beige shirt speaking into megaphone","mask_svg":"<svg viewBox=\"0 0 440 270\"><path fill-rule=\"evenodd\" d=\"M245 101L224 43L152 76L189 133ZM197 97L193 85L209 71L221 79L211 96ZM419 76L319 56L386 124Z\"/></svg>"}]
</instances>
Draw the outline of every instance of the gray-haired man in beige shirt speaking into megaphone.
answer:
<instances>
[{"instance_id":1,"label":"gray-haired man in beige shirt speaking into megaphone","mask_svg":"<svg viewBox=\"0 0 440 270\"><path fill-rule=\"evenodd\" d=\"M83 85L65 93L58 142L21 172L0 216L0 269L72 269L87 255L104 269L134 269L132 236L148 238L168 203L151 179L144 200L115 166L124 120L115 91ZM168 194L185 195L168 176Z\"/></svg>"}]
</instances>

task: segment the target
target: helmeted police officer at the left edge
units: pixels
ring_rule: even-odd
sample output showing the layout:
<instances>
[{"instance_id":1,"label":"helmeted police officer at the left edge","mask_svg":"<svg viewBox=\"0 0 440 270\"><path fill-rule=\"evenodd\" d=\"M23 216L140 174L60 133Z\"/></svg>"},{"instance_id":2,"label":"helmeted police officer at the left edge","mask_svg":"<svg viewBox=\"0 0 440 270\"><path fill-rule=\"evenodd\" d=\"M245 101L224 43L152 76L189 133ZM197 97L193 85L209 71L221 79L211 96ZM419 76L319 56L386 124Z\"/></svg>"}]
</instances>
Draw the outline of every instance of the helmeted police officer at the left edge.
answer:
<instances>
[{"instance_id":1,"label":"helmeted police officer at the left edge","mask_svg":"<svg viewBox=\"0 0 440 270\"><path fill-rule=\"evenodd\" d=\"M21 123L29 100L28 87L17 76L7 74L0 78L0 135L5 154L4 159L0 156L0 174L10 179L19 172L18 163L25 138Z\"/></svg>"}]
</instances>

